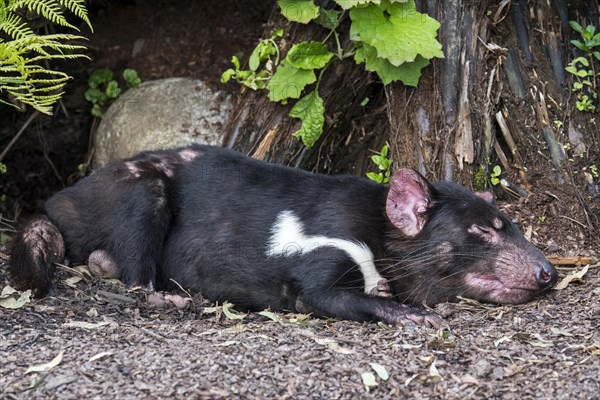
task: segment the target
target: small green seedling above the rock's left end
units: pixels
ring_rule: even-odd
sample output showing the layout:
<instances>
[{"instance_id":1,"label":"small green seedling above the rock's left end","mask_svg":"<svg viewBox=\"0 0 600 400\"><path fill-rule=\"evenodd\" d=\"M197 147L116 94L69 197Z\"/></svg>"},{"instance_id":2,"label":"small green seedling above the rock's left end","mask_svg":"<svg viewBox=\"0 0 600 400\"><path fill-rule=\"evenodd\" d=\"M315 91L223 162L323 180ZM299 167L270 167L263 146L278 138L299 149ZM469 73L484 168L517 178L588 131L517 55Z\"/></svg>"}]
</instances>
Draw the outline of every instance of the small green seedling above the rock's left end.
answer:
<instances>
[{"instance_id":1,"label":"small green seedling above the rock's left end","mask_svg":"<svg viewBox=\"0 0 600 400\"><path fill-rule=\"evenodd\" d=\"M124 70L122 76L128 89L137 88L142 82L133 69ZM92 103L92 115L96 118L102 118L108 106L121 95L119 83L113 77L112 70L100 68L92 72L88 78L88 89L84 96Z\"/></svg>"}]
</instances>

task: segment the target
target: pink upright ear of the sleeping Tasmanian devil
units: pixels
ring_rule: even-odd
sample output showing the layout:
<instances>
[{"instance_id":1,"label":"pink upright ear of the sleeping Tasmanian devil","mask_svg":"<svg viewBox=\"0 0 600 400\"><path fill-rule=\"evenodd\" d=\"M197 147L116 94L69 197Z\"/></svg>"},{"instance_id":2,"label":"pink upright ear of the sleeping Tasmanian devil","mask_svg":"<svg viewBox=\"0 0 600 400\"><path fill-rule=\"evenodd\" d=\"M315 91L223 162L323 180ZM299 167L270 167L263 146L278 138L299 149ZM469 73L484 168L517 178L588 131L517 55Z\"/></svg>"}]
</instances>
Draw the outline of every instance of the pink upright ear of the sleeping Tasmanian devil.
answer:
<instances>
[{"instance_id":1,"label":"pink upright ear of the sleeping Tasmanian devil","mask_svg":"<svg viewBox=\"0 0 600 400\"><path fill-rule=\"evenodd\" d=\"M415 236L425 225L425 211L431 203L429 182L412 169L397 171L390 180L385 210L394 226Z\"/></svg>"}]
</instances>

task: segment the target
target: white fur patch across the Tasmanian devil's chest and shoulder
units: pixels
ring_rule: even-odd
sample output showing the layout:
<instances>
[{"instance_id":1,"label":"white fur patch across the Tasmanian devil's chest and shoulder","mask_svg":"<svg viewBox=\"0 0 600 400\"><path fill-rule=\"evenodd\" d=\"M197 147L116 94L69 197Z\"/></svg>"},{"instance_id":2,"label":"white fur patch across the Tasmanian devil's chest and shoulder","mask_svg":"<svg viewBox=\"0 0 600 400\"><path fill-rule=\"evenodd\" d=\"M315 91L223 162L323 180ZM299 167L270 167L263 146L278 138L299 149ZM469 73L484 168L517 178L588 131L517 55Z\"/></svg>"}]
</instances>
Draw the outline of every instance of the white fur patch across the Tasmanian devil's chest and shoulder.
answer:
<instances>
[{"instance_id":1,"label":"white fur patch across the Tasmanian devil's chest and shoulder","mask_svg":"<svg viewBox=\"0 0 600 400\"><path fill-rule=\"evenodd\" d=\"M292 256L306 254L319 247L335 247L345 251L358 265L365 280L365 293L377 287L383 277L377 272L373 253L366 244L326 236L308 236L300 219L289 210L281 212L271 228L267 256Z\"/></svg>"}]
</instances>

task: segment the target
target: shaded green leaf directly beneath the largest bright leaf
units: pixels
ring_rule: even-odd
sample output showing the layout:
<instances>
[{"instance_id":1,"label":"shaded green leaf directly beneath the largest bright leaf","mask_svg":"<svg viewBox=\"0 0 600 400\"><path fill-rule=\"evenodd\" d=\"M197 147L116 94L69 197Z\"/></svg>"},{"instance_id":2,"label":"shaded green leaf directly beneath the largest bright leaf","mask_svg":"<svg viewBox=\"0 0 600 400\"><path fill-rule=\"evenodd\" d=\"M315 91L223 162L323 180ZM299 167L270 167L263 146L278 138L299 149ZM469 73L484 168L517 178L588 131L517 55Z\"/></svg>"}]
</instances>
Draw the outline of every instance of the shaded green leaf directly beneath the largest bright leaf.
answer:
<instances>
[{"instance_id":1,"label":"shaded green leaf directly beneath the largest bright leaf","mask_svg":"<svg viewBox=\"0 0 600 400\"><path fill-rule=\"evenodd\" d=\"M364 62L367 71L376 72L384 85L400 81L407 86L417 86L421 70L429 65L429 60L420 55L417 55L412 62L405 62L399 66L392 65L388 60L377 57L377 51L365 43L356 49L354 59L359 64Z\"/></svg>"}]
</instances>

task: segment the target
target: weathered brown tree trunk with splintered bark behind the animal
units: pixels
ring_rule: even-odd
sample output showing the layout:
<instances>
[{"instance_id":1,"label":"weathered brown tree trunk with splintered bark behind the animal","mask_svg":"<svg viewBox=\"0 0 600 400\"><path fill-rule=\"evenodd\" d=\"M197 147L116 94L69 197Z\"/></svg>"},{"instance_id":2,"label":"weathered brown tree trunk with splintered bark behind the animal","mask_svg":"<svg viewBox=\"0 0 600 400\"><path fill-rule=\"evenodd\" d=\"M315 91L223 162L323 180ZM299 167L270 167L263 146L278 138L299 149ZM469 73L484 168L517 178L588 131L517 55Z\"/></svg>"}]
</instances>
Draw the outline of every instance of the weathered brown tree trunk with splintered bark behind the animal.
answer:
<instances>
[{"instance_id":1,"label":"weathered brown tree trunk with splintered bark behind the animal","mask_svg":"<svg viewBox=\"0 0 600 400\"><path fill-rule=\"evenodd\" d=\"M583 132L586 160L598 160L598 111L574 111L573 81L564 68L580 55L569 43L574 32L568 21L600 27L600 5L584 0L568 5L566 0L426 0L418 6L442 21L439 40L445 58L424 69L417 88L400 83L383 87L353 60L337 62L321 84L325 133L311 150L291 136L297 122L287 116L289 105L241 90L228 145L309 170L363 175L374 169L368 157L388 142L395 167L410 166L430 178L478 190L489 170L500 165L502 188L514 196L528 199L534 192L553 191L552 185L570 185L557 189L564 196L560 201L581 204L576 217L591 234L600 221L583 192L591 191L597 199L597 179L583 182L574 170L585 165L569 163L561 144L569 143L569 132ZM289 24L278 12L274 15L266 35L285 26L287 47L324 36L319 27ZM370 101L361 107L366 97Z\"/></svg>"}]
</instances>

